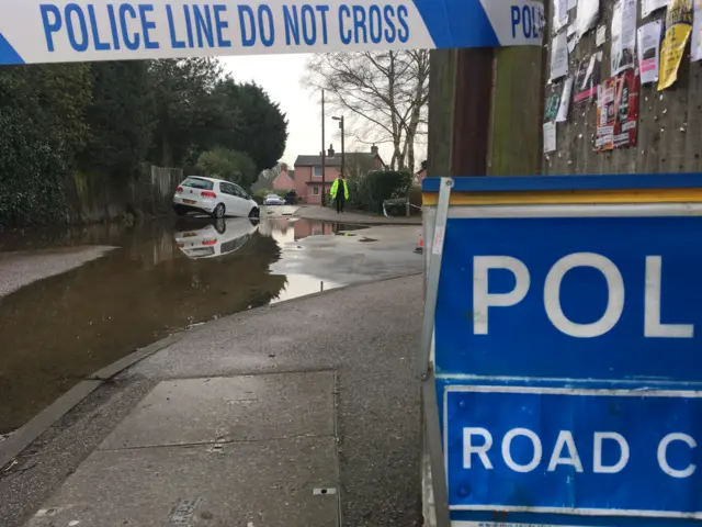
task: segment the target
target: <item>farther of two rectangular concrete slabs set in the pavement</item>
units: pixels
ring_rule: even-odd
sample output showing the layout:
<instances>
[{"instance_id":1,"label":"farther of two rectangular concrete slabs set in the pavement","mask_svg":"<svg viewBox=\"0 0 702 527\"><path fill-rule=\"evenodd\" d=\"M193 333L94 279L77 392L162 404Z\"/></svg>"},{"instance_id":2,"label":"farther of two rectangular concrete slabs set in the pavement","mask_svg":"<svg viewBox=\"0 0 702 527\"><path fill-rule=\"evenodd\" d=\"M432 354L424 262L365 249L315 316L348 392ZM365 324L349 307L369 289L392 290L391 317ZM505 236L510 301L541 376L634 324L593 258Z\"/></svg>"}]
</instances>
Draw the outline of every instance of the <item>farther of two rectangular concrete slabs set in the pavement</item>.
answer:
<instances>
[{"instance_id":1,"label":"farther of two rectangular concrete slabs set in the pavement","mask_svg":"<svg viewBox=\"0 0 702 527\"><path fill-rule=\"evenodd\" d=\"M162 381L100 446L333 436L332 371Z\"/></svg>"}]
</instances>

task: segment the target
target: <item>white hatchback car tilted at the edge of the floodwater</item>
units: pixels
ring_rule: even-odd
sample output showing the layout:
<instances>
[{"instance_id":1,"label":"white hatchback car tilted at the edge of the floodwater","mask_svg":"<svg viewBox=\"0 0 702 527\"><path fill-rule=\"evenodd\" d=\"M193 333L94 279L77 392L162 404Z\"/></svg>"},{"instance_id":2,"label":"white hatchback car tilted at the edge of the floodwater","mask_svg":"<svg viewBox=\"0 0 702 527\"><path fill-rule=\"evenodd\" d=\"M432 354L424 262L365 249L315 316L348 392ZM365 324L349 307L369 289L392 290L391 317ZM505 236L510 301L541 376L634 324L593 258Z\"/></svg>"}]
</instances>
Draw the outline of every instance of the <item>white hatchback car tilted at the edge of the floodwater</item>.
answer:
<instances>
[{"instance_id":1,"label":"white hatchback car tilted at the edge of the floodwater","mask_svg":"<svg viewBox=\"0 0 702 527\"><path fill-rule=\"evenodd\" d=\"M173 210L179 216L196 211L215 217L259 217L258 203L241 187L202 176L190 176L178 186Z\"/></svg>"}]
</instances>

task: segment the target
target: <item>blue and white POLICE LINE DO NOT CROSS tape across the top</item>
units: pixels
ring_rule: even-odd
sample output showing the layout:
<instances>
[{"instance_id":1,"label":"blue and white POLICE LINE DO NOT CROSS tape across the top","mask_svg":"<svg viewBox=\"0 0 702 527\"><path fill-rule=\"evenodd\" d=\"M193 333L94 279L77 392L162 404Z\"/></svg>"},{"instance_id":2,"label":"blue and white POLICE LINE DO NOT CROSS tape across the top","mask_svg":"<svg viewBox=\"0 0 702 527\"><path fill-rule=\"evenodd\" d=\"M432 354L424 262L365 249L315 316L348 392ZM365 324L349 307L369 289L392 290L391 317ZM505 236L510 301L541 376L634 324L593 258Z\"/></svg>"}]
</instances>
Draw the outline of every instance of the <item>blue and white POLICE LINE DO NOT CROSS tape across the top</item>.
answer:
<instances>
[{"instance_id":1,"label":"blue and white POLICE LINE DO NOT CROSS tape across the top","mask_svg":"<svg viewBox=\"0 0 702 527\"><path fill-rule=\"evenodd\" d=\"M0 65L541 45L539 0L0 1Z\"/></svg>"}]
</instances>

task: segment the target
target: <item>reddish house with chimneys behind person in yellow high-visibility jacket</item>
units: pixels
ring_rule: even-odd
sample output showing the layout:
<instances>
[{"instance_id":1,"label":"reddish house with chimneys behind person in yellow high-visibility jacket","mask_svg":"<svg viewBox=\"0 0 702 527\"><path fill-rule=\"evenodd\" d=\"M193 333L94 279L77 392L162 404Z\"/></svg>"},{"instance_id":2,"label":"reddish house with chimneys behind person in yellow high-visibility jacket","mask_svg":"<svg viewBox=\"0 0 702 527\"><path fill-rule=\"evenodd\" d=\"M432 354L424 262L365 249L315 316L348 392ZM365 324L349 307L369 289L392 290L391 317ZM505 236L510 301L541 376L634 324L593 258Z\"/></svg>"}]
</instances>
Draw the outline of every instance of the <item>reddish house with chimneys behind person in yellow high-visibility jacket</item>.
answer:
<instances>
[{"instance_id":1,"label":"reddish house with chimneys behind person in yellow high-visibility jacket","mask_svg":"<svg viewBox=\"0 0 702 527\"><path fill-rule=\"evenodd\" d=\"M347 152L344 156L344 170L347 175L358 173L360 167L370 167L370 170L381 170L385 167L377 153L377 146L373 145L371 152ZM325 187L327 192L331 183L341 171L341 154L335 152L330 145L325 159ZM310 204L321 203L321 154L317 156L297 156L295 160L295 193L303 202Z\"/></svg>"}]
</instances>

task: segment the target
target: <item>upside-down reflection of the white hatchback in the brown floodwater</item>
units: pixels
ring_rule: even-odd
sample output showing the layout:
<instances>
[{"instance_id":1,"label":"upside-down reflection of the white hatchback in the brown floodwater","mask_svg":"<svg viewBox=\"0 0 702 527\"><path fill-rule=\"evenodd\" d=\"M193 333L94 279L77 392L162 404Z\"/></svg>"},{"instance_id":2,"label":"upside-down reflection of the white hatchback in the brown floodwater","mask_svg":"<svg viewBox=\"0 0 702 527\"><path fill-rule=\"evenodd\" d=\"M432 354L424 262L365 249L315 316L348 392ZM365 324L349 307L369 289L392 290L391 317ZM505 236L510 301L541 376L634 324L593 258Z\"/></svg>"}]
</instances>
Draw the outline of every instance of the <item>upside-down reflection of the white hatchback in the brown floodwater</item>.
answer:
<instances>
[{"instance_id":1,"label":"upside-down reflection of the white hatchback in the brown floodwater","mask_svg":"<svg viewBox=\"0 0 702 527\"><path fill-rule=\"evenodd\" d=\"M176 247L188 258L216 258L240 249L258 228L258 220L218 218L196 228L176 232L173 239Z\"/></svg>"}]
</instances>

